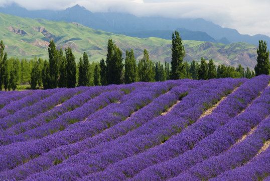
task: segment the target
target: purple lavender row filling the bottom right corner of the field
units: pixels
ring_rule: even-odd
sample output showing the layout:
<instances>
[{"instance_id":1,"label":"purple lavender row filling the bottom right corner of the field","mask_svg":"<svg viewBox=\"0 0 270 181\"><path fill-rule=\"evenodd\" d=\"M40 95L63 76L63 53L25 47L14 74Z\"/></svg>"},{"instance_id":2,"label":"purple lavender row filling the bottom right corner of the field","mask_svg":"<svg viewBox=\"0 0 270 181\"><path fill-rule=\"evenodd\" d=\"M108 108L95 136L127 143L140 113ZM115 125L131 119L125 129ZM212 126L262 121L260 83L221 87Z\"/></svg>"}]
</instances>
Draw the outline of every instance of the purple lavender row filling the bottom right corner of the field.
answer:
<instances>
[{"instance_id":1,"label":"purple lavender row filling the bottom right corner of the field","mask_svg":"<svg viewBox=\"0 0 270 181\"><path fill-rule=\"evenodd\" d=\"M269 132L269 129L267 130ZM269 139L269 136L268 136ZM211 180L270 180L270 147L254 157L247 164L226 171Z\"/></svg>"}]
</instances>

